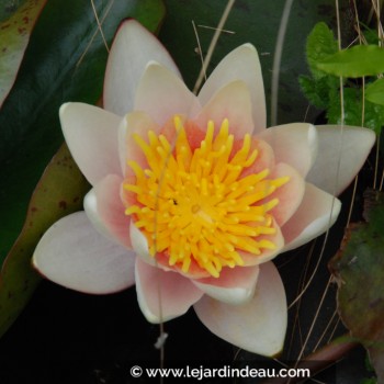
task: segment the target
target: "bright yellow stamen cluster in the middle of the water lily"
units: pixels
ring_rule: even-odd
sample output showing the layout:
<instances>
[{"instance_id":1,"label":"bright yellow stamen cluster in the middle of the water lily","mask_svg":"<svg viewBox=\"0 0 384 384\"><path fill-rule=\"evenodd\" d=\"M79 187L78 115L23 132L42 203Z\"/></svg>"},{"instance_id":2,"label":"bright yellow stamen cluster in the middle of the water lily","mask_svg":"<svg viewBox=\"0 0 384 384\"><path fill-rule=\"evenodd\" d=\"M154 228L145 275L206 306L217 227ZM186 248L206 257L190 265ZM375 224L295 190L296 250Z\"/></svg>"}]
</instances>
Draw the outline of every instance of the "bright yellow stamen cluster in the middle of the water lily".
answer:
<instances>
[{"instance_id":1,"label":"bright yellow stamen cluster in the middle of the water lily","mask_svg":"<svg viewBox=\"0 0 384 384\"><path fill-rule=\"evenodd\" d=\"M136 204L125 214L146 236L150 255L163 252L169 266L185 273L193 263L218 278L223 267L244 266L241 251L257 257L263 249L274 249L276 229L269 212L279 200L268 197L289 177L268 179L269 169L242 177L258 151L251 150L248 134L242 147L234 150L227 120L215 137L210 121L197 148L191 147L179 116L173 124L173 147L165 135L151 131L148 142L134 135L147 168L128 161L136 180L123 183L125 191L136 194Z\"/></svg>"}]
</instances>

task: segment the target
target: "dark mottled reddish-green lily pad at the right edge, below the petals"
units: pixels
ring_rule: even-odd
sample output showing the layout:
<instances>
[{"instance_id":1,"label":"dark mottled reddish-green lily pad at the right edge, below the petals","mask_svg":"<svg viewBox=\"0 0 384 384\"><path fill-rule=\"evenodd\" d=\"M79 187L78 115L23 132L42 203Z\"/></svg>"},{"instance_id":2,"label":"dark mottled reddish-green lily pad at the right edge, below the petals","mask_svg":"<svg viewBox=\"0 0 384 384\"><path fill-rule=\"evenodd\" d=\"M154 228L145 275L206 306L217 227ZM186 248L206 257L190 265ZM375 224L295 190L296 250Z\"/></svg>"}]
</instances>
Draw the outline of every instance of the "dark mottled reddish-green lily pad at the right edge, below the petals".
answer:
<instances>
[{"instance_id":1,"label":"dark mottled reddish-green lily pad at the right edge, below the petals","mask_svg":"<svg viewBox=\"0 0 384 384\"><path fill-rule=\"evenodd\" d=\"M384 381L384 193L365 196L366 223L352 225L330 268L339 285L338 309L351 336L369 351Z\"/></svg>"}]
</instances>

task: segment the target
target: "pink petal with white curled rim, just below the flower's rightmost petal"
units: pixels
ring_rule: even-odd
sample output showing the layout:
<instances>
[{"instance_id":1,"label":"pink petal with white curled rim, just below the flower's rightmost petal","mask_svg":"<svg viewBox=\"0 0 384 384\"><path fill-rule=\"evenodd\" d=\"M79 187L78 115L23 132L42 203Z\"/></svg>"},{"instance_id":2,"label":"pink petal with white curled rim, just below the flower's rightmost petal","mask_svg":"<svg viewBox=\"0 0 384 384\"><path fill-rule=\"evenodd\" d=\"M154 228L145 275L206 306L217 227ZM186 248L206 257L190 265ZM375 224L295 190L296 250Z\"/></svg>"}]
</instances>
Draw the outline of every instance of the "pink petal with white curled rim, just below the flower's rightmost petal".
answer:
<instances>
[{"instance_id":1,"label":"pink petal with white curled rim, just below the flower's rightmost petal","mask_svg":"<svg viewBox=\"0 0 384 384\"><path fill-rule=\"evenodd\" d=\"M301 206L282 231L284 251L297 248L324 234L336 222L341 203L327 192L307 183Z\"/></svg>"}]
</instances>

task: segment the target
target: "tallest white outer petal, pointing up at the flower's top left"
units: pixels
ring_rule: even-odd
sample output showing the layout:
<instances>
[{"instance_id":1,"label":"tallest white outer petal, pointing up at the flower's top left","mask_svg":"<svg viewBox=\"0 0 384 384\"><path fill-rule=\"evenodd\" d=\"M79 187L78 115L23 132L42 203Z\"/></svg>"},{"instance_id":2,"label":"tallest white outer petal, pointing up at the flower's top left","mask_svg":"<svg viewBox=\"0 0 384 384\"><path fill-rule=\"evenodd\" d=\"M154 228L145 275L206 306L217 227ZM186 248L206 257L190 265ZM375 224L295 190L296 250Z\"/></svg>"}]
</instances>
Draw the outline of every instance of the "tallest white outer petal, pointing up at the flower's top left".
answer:
<instances>
[{"instance_id":1,"label":"tallest white outer petal, pointing up at the flower's top left","mask_svg":"<svg viewBox=\"0 0 384 384\"><path fill-rule=\"evenodd\" d=\"M124 116L134 108L137 84L150 60L179 75L171 56L159 41L135 20L123 22L108 59L104 79L104 108Z\"/></svg>"}]
</instances>

